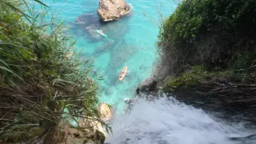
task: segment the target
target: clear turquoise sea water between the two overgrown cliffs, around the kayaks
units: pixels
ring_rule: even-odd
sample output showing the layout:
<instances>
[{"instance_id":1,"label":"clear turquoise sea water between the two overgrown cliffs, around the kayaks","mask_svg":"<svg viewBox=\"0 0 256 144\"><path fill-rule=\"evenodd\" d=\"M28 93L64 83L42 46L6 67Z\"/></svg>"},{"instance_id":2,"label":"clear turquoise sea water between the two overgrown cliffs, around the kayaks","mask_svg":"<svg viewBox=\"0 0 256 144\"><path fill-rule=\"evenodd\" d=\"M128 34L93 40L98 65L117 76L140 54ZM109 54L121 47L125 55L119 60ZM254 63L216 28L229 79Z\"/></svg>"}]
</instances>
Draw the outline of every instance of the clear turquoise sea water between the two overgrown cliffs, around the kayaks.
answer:
<instances>
[{"instance_id":1,"label":"clear turquoise sea water between the two overgrown cliffs, around the kayaks","mask_svg":"<svg viewBox=\"0 0 256 144\"><path fill-rule=\"evenodd\" d=\"M64 20L68 33L78 39L76 51L83 56L93 57L100 81L100 101L124 107L123 99L132 98L136 87L149 77L157 60L156 41L159 28L146 17L160 22L160 14L168 17L177 4L172 0L127 0L130 14L114 22L100 22L96 14L98 0L46 0L57 17ZM144 16L146 14L146 17ZM96 29L108 36L102 37ZM118 80L123 67L128 67L127 77Z\"/></svg>"}]
</instances>

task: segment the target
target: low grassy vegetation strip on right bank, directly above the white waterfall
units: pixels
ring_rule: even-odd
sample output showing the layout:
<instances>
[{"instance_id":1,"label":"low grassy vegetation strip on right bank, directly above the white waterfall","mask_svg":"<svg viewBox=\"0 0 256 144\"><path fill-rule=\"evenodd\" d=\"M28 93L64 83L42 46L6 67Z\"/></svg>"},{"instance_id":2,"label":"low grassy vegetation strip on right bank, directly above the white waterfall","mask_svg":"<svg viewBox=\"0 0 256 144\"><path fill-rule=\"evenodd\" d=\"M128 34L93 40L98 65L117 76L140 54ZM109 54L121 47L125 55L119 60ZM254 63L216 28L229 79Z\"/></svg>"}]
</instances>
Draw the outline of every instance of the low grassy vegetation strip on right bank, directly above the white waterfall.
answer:
<instances>
[{"instance_id":1,"label":"low grassy vegetation strip on right bank, directly above the white waterfall","mask_svg":"<svg viewBox=\"0 0 256 144\"><path fill-rule=\"evenodd\" d=\"M179 77L171 78L163 90L185 103L207 103L205 109L242 111L256 102L256 79L244 72L208 72L203 67L191 67ZM253 119L251 119L253 121Z\"/></svg>"}]
</instances>

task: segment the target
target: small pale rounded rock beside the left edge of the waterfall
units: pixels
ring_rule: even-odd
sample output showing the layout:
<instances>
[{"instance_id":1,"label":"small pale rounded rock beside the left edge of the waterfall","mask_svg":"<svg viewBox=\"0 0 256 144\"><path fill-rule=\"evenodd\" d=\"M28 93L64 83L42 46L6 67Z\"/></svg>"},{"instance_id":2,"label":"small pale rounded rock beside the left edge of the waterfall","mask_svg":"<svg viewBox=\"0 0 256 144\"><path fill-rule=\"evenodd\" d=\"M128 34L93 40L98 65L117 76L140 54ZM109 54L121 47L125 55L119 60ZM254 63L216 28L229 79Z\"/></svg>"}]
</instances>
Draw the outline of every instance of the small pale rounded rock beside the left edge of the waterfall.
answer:
<instances>
[{"instance_id":1,"label":"small pale rounded rock beside the left edge of the waterfall","mask_svg":"<svg viewBox=\"0 0 256 144\"><path fill-rule=\"evenodd\" d=\"M107 121L112 118L112 108L107 105L107 103L100 103L97 109L103 121Z\"/></svg>"}]
</instances>

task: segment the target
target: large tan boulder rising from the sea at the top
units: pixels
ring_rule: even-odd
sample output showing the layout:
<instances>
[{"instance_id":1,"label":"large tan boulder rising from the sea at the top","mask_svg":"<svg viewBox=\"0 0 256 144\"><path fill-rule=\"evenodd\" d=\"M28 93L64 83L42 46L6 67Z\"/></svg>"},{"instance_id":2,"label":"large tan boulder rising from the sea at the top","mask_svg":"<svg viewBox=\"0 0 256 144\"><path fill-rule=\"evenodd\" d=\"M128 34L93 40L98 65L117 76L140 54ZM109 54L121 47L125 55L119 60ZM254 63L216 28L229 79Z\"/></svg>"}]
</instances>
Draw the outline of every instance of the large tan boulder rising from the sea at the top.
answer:
<instances>
[{"instance_id":1,"label":"large tan boulder rising from the sea at the top","mask_svg":"<svg viewBox=\"0 0 256 144\"><path fill-rule=\"evenodd\" d=\"M131 7L125 0L99 0L98 15L104 22L118 20L130 11Z\"/></svg>"}]
</instances>

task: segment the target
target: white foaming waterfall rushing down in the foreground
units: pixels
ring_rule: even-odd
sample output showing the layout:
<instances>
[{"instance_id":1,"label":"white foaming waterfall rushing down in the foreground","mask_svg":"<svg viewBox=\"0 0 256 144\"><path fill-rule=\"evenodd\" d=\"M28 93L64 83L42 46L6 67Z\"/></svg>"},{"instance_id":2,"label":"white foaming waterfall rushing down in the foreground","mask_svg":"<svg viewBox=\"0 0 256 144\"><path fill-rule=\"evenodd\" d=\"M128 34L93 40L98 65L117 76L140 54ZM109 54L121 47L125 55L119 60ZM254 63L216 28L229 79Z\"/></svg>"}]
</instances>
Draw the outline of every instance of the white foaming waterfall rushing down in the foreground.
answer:
<instances>
[{"instance_id":1,"label":"white foaming waterfall rushing down in the foreground","mask_svg":"<svg viewBox=\"0 0 256 144\"><path fill-rule=\"evenodd\" d=\"M235 126L234 126L235 125ZM231 141L228 137L253 134L242 124L224 124L202 109L195 109L175 98L148 102L142 98L112 125L111 144L234 144L256 143Z\"/></svg>"}]
</instances>

